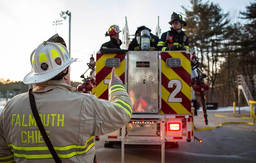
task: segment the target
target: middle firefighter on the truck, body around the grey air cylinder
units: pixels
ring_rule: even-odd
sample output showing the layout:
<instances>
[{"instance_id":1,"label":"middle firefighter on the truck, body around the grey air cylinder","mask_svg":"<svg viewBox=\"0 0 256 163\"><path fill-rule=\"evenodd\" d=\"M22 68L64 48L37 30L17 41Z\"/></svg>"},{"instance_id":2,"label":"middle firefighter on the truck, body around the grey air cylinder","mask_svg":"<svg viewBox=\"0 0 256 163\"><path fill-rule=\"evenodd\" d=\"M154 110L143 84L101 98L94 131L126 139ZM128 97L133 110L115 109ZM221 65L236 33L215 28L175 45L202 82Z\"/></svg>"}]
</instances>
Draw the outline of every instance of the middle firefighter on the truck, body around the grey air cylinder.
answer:
<instances>
[{"instance_id":1,"label":"middle firefighter on the truck, body around the grey air cylinder","mask_svg":"<svg viewBox=\"0 0 256 163\"><path fill-rule=\"evenodd\" d=\"M149 32L151 32L151 29L140 26L137 27L137 31L135 32L135 37L132 39L131 43L129 44L128 50L141 50L141 31L147 29ZM150 50L157 50L157 43L159 41L159 38L152 33L150 33Z\"/></svg>"}]
</instances>

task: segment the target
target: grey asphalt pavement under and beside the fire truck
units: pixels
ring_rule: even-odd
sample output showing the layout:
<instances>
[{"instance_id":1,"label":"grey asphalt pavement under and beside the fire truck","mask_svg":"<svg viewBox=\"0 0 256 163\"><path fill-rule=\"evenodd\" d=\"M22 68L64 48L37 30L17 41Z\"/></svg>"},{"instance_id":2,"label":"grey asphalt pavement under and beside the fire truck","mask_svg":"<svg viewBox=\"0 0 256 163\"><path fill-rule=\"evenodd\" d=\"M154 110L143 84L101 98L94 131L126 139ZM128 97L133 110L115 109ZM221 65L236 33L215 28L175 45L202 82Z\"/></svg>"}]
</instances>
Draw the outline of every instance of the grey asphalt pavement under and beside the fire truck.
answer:
<instances>
[{"instance_id":1,"label":"grey asphalt pavement under and beside the fire truck","mask_svg":"<svg viewBox=\"0 0 256 163\"><path fill-rule=\"evenodd\" d=\"M232 112L208 112L209 125L205 126L202 112L195 117L195 127L218 126L221 122L253 122L252 119L220 118L215 114L233 116ZM241 115L249 116L249 112ZM239 116L239 115L235 115ZM228 124L215 130L195 131L199 143L179 143L178 148L166 148L165 163L256 163L256 125ZM120 163L121 145L104 148L96 141L99 163ZM160 145L125 145L125 163L161 163Z\"/></svg>"}]
</instances>

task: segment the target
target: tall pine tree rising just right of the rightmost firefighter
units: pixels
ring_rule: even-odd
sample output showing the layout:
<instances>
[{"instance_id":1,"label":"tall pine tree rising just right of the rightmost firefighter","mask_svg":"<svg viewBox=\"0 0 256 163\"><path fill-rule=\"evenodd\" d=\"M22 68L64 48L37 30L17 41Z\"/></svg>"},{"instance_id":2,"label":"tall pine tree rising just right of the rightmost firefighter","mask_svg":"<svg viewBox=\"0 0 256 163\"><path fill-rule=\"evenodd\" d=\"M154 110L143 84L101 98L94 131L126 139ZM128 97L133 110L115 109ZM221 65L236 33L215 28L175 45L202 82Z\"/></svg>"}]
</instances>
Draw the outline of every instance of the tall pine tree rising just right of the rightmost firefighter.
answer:
<instances>
[{"instance_id":1,"label":"tall pine tree rising just right of the rightmost firefighter","mask_svg":"<svg viewBox=\"0 0 256 163\"><path fill-rule=\"evenodd\" d=\"M194 47L200 54L200 61L208 76L211 86L211 99L214 99L214 88L218 76L218 65L223 46L223 33L229 23L228 13L223 13L218 4L201 0L190 0L192 7L183 6L188 25L185 27L190 40L190 47Z\"/></svg>"}]
</instances>

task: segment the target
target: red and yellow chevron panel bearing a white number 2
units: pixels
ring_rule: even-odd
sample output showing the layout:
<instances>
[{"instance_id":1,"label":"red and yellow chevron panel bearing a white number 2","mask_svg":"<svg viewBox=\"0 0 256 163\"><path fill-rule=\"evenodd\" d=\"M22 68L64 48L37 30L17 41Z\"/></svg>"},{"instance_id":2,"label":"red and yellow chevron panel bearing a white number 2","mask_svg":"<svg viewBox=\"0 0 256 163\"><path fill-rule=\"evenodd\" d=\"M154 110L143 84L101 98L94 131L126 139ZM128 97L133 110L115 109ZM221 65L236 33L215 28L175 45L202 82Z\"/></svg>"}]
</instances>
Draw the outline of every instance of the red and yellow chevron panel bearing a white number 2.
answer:
<instances>
[{"instance_id":1,"label":"red and yellow chevron panel bearing a white number 2","mask_svg":"<svg viewBox=\"0 0 256 163\"><path fill-rule=\"evenodd\" d=\"M180 58L181 67L167 67L167 58ZM161 52L161 110L165 114L191 114L191 63L186 52Z\"/></svg>"}]
</instances>

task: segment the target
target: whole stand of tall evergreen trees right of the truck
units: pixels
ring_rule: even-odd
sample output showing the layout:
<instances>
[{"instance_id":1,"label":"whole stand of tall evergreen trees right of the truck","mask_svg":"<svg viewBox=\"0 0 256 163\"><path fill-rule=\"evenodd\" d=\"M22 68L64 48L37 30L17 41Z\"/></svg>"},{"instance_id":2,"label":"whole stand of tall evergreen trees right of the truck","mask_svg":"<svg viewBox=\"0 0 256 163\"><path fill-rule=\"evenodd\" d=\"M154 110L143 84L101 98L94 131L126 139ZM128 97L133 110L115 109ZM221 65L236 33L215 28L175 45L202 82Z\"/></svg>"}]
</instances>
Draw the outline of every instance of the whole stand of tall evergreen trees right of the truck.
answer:
<instances>
[{"instance_id":1,"label":"whole stand of tall evergreen trees right of the truck","mask_svg":"<svg viewBox=\"0 0 256 163\"><path fill-rule=\"evenodd\" d=\"M230 106L237 101L237 76L256 74L256 1L236 21L219 4L190 0L184 7L189 47L194 48L210 85L207 101ZM256 100L256 99L255 99ZM245 104L245 103L244 103Z\"/></svg>"}]
</instances>

